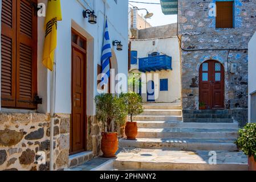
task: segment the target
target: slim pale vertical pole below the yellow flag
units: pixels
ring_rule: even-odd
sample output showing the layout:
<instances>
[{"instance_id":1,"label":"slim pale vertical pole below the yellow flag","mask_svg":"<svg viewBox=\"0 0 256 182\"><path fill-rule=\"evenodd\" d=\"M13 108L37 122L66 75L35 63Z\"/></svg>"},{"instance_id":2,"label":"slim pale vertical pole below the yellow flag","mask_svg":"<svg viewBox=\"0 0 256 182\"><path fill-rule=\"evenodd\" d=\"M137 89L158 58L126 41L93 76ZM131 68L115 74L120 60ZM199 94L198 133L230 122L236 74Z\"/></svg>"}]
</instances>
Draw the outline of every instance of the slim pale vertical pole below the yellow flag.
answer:
<instances>
[{"instance_id":1,"label":"slim pale vertical pole below the yellow flag","mask_svg":"<svg viewBox=\"0 0 256 182\"><path fill-rule=\"evenodd\" d=\"M50 171L54 171L54 117L55 117L55 77L56 76L56 49L54 51L54 64L51 72L50 86Z\"/></svg>"}]
</instances>

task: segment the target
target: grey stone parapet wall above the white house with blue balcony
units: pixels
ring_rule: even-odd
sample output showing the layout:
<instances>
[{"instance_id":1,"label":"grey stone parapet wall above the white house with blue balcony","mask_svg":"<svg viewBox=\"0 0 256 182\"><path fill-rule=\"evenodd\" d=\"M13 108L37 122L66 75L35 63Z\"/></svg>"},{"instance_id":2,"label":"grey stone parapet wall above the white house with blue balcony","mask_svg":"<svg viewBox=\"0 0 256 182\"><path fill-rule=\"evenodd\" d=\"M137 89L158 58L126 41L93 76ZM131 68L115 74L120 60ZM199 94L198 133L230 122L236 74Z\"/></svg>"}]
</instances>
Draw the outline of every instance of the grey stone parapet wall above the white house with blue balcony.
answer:
<instances>
[{"instance_id":1,"label":"grey stone parapet wall above the white house with blue balcony","mask_svg":"<svg viewBox=\"0 0 256 182\"><path fill-rule=\"evenodd\" d=\"M177 23L139 30L139 39L164 38L177 35Z\"/></svg>"}]
</instances>

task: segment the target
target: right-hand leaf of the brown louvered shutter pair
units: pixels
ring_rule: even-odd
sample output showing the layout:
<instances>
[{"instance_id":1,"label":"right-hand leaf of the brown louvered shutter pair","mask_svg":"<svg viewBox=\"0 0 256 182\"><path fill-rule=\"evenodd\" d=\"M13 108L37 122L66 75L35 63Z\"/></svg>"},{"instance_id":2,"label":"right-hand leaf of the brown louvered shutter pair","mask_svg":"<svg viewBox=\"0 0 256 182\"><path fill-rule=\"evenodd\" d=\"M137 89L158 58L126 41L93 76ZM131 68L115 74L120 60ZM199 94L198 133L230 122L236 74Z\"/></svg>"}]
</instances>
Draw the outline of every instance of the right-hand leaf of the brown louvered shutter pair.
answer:
<instances>
[{"instance_id":1,"label":"right-hand leaf of the brown louvered shutter pair","mask_svg":"<svg viewBox=\"0 0 256 182\"><path fill-rule=\"evenodd\" d=\"M26 0L17 0L16 107L36 109L37 17Z\"/></svg>"}]
</instances>

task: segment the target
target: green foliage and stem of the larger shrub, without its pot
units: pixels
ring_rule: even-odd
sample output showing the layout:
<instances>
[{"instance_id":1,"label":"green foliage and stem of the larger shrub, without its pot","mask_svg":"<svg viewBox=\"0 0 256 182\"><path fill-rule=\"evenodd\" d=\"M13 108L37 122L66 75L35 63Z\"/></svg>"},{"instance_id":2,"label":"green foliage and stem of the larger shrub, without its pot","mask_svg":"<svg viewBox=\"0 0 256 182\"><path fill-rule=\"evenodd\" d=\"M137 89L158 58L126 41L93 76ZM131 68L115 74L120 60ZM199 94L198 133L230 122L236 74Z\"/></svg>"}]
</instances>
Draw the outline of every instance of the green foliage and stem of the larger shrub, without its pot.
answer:
<instances>
[{"instance_id":1,"label":"green foliage and stem of the larger shrub, without its pot","mask_svg":"<svg viewBox=\"0 0 256 182\"><path fill-rule=\"evenodd\" d=\"M111 132L111 122L123 125L128 113L121 98L112 94L100 94L95 97L96 118Z\"/></svg>"}]
</instances>

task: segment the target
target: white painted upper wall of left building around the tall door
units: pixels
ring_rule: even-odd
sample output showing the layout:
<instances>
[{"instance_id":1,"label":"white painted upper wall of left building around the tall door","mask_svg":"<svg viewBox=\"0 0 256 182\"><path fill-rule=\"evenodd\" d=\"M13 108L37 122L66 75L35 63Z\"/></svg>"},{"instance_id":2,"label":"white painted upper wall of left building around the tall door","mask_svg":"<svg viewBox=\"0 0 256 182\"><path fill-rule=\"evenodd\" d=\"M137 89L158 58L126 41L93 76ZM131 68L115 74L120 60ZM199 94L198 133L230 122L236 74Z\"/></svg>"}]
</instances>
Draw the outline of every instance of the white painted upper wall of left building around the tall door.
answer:
<instances>
[{"instance_id":1,"label":"white painted upper wall of left building around the tall door","mask_svg":"<svg viewBox=\"0 0 256 182\"><path fill-rule=\"evenodd\" d=\"M46 3L47 0L39 0ZM123 51L112 48L119 73L128 73L128 0L62 0L62 18L58 22L58 46L56 48L56 105L55 112L71 114L71 27L87 38L87 114L95 114L94 97L97 94L97 64L101 64L104 15L108 18L111 43L119 40ZM95 11L97 23L88 23L83 10ZM40 113L50 112L50 71L42 64L44 43L44 18L38 18L38 94L43 98ZM112 46L112 45L111 45Z\"/></svg>"}]
</instances>

